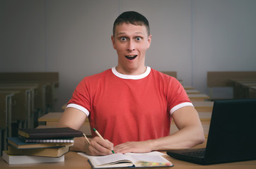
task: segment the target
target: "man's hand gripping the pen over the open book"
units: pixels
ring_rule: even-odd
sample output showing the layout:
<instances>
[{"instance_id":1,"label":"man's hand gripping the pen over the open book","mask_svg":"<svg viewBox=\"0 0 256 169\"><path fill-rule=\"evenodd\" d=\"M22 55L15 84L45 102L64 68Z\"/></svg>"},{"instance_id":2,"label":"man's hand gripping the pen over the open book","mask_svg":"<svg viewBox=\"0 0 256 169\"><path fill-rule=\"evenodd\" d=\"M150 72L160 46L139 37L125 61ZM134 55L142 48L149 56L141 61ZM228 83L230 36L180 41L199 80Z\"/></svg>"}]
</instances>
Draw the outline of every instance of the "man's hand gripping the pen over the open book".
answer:
<instances>
[{"instance_id":1,"label":"man's hand gripping the pen over the open book","mask_svg":"<svg viewBox=\"0 0 256 169\"><path fill-rule=\"evenodd\" d=\"M91 156L105 156L112 154L113 146L112 142L107 139L101 139L100 137L94 137L90 139L91 145L86 142L86 154Z\"/></svg>"}]
</instances>

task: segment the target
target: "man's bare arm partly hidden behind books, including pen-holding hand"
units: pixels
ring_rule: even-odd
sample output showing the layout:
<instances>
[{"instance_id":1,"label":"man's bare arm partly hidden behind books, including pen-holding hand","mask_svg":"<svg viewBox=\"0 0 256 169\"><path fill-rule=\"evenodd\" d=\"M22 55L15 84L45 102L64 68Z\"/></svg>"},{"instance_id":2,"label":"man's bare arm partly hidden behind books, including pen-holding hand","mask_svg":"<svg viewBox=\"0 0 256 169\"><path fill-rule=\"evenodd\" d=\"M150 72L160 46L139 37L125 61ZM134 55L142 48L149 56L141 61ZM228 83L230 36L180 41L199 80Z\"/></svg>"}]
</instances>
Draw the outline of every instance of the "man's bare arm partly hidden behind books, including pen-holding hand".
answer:
<instances>
[{"instance_id":1,"label":"man's bare arm partly hidden behind books, including pen-holding hand","mask_svg":"<svg viewBox=\"0 0 256 169\"><path fill-rule=\"evenodd\" d=\"M62 117L59 119L57 127L70 127L79 130L86 120L87 115L76 108L66 108ZM88 144L85 137L75 137L74 146L71 151L83 151L89 155L107 155L112 154L113 144L108 140L102 140L100 137L89 139L91 145Z\"/></svg>"}]
</instances>

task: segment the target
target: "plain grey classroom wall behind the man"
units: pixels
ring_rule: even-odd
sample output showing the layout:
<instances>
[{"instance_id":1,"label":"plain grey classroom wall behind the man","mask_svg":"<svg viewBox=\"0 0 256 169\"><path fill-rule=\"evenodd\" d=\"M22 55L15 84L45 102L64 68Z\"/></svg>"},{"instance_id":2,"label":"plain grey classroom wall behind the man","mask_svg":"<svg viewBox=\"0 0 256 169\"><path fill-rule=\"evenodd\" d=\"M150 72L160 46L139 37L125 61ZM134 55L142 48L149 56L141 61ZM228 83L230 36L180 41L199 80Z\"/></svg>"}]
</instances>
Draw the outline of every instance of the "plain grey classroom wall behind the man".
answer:
<instances>
[{"instance_id":1,"label":"plain grey classroom wall behind the man","mask_svg":"<svg viewBox=\"0 0 256 169\"><path fill-rule=\"evenodd\" d=\"M151 27L146 65L209 94L207 71L256 71L255 8L255 0L0 0L0 72L59 72L62 111L83 77L117 65L112 24L138 11Z\"/></svg>"}]
</instances>

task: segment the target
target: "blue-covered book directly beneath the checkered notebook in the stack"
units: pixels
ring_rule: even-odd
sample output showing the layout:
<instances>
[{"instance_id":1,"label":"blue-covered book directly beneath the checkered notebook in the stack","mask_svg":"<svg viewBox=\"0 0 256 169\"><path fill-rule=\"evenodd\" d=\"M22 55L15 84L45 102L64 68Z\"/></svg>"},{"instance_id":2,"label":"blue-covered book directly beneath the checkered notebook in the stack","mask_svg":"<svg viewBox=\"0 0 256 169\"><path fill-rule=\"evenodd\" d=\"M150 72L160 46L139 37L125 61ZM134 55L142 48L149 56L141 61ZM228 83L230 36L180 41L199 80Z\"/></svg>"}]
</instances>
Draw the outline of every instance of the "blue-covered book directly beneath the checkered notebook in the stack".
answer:
<instances>
[{"instance_id":1,"label":"blue-covered book directly beneath the checkered notebook in the stack","mask_svg":"<svg viewBox=\"0 0 256 169\"><path fill-rule=\"evenodd\" d=\"M25 142L23 137L8 137L8 144L15 146L17 149L33 149L33 148L46 148L46 147L57 147L57 146L72 146L74 143L35 143Z\"/></svg>"}]
</instances>

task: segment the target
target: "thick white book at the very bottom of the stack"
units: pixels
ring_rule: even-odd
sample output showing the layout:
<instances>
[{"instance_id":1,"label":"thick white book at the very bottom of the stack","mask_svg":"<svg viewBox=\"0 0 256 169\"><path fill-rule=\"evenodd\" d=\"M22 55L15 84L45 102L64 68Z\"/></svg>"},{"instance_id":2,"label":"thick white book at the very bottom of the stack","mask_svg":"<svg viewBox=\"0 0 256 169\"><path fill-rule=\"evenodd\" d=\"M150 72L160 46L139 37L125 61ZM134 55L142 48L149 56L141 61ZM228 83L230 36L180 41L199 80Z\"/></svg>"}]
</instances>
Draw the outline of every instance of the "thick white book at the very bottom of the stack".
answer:
<instances>
[{"instance_id":1,"label":"thick white book at the very bottom of the stack","mask_svg":"<svg viewBox=\"0 0 256 169\"><path fill-rule=\"evenodd\" d=\"M25 163L56 163L56 162L64 162L64 156L60 156L60 157L57 157L57 158L42 157L42 156L13 156L13 155L7 154L7 151L3 151L2 158L8 164L25 164Z\"/></svg>"}]
</instances>

